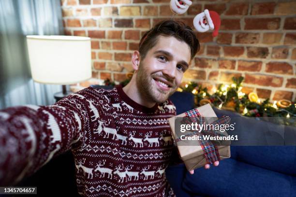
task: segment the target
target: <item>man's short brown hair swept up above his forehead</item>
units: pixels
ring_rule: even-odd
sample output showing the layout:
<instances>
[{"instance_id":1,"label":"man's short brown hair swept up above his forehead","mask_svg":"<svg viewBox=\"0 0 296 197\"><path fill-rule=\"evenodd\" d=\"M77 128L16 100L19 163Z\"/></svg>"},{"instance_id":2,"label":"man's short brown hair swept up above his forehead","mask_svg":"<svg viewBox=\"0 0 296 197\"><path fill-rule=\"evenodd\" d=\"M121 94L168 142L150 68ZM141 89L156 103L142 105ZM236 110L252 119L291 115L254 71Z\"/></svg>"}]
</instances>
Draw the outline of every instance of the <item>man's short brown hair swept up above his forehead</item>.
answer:
<instances>
[{"instance_id":1,"label":"man's short brown hair swept up above his forehead","mask_svg":"<svg viewBox=\"0 0 296 197\"><path fill-rule=\"evenodd\" d=\"M199 50L199 42L191 27L180 21L165 20L156 24L141 38L139 43L139 53L142 59L144 59L147 52L155 46L159 35L165 37L173 36L179 41L186 42L190 47L191 59L193 59L196 52Z\"/></svg>"}]
</instances>

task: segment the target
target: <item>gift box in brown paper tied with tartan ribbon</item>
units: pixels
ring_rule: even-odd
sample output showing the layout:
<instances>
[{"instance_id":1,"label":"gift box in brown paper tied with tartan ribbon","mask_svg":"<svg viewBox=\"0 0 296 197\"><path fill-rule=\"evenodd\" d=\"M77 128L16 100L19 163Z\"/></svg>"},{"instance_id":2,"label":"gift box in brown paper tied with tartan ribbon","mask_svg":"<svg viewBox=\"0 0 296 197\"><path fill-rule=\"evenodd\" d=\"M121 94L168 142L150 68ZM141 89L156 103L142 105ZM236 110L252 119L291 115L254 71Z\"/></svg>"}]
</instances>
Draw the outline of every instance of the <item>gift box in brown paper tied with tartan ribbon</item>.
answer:
<instances>
[{"instance_id":1,"label":"gift box in brown paper tied with tartan ribbon","mask_svg":"<svg viewBox=\"0 0 296 197\"><path fill-rule=\"evenodd\" d=\"M221 132L219 129L205 129L202 128L200 132L186 130L182 133L187 139L189 137L201 136L200 140L182 140L180 132L176 129L176 125L184 124L187 125L197 123L199 125L207 124L213 126L219 126L223 124L228 124L230 122L230 117L222 117L218 119L217 115L214 113L210 104L203 105L191 111L179 114L175 117L169 118L169 124L172 129L174 140L177 144L178 152L181 159L188 170L193 170L206 166L207 164L213 164L216 161L220 161L225 158L230 157L230 141L210 141L204 140L203 135L209 136L225 136L227 137L226 131ZM176 129L175 129L176 128Z\"/></svg>"}]
</instances>

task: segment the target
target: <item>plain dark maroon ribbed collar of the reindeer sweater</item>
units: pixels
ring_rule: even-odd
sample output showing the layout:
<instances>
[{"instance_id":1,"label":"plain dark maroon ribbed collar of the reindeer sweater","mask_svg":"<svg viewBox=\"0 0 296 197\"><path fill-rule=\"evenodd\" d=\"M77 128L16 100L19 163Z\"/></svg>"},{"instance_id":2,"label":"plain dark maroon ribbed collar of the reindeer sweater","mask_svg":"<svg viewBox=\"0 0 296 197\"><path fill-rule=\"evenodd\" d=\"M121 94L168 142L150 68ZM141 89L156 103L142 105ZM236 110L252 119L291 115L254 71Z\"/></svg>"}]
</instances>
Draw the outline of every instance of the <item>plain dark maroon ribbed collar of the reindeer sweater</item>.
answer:
<instances>
[{"instance_id":1,"label":"plain dark maroon ribbed collar of the reindeer sweater","mask_svg":"<svg viewBox=\"0 0 296 197\"><path fill-rule=\"evenodd\" d=\"M155 111L158 109L158 103L156 103L153 107L148 108L146 106L143 106L135 101L133 101L131 98L129 98L129 96L127 94L125 94L125 92L122 89L122 85L117 85L115 86L115 88L118 91L118 94L120 96L120 98L126 102L128 105L130 105L131 107L133 107L134 109L143 112L143 113L155 113Z\"/></svg>"}]
</instances>

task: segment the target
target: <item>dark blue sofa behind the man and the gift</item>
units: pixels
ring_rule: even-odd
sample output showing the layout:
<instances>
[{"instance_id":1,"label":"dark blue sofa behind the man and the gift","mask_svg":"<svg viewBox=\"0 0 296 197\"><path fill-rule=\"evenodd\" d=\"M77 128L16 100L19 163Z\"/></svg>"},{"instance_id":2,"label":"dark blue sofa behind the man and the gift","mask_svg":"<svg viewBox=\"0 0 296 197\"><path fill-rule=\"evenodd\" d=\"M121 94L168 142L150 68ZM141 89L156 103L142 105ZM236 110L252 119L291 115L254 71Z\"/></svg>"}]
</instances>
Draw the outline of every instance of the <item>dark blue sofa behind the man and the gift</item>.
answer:
<instances>
[{"instance_id":1,"label":"dark blue sofa behind the man and the gift","mask_svg":"<svg viewBox=\"0 0 296 197\"><path fill-rule=\"evenodd\" d=\"M171 100L178 114L193 108L191 93L175 93ZM218 117L240 116L216 108L214 111ZM243 127L234 132L258 135L260 124L264 125L263 121L256 122L248 117L240 120ZM295 127L289 129L294 129L290 133L296 133ZM268 140L282 139L274 134ZM231 158L222 160L218 167L195 169L191 175L180 164L169 166L165 173L177 197L296 197L296 146L231 146Z\"/></svg>"}]
</instances>

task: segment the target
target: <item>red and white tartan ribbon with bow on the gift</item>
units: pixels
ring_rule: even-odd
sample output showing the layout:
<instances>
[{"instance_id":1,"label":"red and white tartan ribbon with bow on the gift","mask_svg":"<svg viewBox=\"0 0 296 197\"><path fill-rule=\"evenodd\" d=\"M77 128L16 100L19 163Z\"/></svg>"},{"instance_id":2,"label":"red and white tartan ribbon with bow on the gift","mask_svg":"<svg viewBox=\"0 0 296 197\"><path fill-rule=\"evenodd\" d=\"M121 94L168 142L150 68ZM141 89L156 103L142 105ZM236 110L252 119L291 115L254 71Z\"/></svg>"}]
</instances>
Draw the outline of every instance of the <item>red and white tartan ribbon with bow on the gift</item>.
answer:
<instances>
[{"instance_id":1,"label":"red and white tartan ribbon with bow on the gift","mask_svg":"<svg viewBox=\"0 0 296 197\"><path fill-rule=\"evenodd\" d=\"M205 124L205 117L202 116L197 109L190 110L185 113L185 116L182 119L182 122L185 124L198 123L199 125ZM211 136L221 136L221 132L219 130L215 130L215 125L228 124L230 122L229 116L222 116L222 118L210 123L213 125L213 129L211 127L209 129L204 128L201 132L192 131L190 134L185 136L200 136L200 146L203 150L205 158L208 164L213 164L215 161L220 161L220 155L218 151L217 145L214 145L212 141L206 140L202 138L202 133L208 134ZM176 142L181 141L181 139L176 139Z\"/></svg>"}]
</instances>

